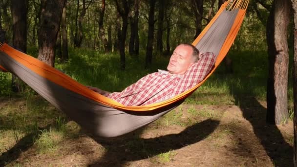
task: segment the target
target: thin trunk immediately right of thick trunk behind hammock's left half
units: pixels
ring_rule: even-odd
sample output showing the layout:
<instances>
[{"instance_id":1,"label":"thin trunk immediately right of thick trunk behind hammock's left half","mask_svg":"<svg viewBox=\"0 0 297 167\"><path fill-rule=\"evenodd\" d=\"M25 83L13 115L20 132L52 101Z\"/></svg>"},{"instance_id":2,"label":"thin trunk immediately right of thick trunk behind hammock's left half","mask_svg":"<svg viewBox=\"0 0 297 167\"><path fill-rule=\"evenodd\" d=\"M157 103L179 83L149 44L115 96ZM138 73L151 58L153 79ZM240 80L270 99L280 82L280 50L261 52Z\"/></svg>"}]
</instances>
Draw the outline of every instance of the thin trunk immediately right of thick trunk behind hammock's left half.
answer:
<instances>
[{"instance_id":1,"label":"thin trunk immediately right of thick trunk behind hammock's left half","mask_svg":"<svg viewBox=\"0 0 297 167\"><path fill-rule=\"evenodd\" d=\"M68 60L68 39L67 39L67 22L66 22L66 6L67 2L65 2L62 19L61 19L61 29L62 29L62 61L65 62Z\"/></svg>"}]
</instances>

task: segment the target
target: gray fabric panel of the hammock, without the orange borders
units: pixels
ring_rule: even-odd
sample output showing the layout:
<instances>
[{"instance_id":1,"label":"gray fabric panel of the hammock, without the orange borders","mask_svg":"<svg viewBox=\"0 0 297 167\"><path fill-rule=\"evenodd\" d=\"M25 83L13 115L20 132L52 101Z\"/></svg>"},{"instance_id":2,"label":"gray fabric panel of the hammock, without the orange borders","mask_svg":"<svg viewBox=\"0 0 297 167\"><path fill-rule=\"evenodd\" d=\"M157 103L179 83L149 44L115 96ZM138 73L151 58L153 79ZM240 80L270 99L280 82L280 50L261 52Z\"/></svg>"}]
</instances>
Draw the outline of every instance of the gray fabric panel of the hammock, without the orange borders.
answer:
<instances>
[{"instance_id":1,"label":"gray fabric panel of the hammock, without the orange borders","mask_svg":"<svg viewBox=\"0 0 297 167\"><path fill-rule=\"evenodd\" d=\"M233 25L238 9L224 10L202 37L196 47L201 53L213 52L218 55ZM116 137L157 120L183 101L170 104L162 110L149 112L128 112L98 103L76 92L55 84L31 69L0 52L0 65L18 76L48 102L63 111L70 119L99 137Z\"/></svg>"}]
</instances>

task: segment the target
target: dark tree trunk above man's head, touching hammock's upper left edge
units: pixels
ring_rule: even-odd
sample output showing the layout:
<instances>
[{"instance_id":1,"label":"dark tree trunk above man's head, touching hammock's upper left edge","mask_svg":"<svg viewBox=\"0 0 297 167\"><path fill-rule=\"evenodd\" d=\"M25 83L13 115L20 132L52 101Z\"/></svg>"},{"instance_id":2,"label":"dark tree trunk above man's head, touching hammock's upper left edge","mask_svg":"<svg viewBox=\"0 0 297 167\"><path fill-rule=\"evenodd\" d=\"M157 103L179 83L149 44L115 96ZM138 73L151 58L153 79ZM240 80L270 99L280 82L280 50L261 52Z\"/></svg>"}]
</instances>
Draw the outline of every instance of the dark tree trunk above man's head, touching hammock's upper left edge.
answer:
<instances>
[{"instance_id":1,"label":"dark tree trunk above man's head, touching hammock's upper left edge","mask_svg":"<svg viewBox=\"0 0 297 167\"><path fill-rule=\"evenodd\" d=\"M194 39L196 39L202 31L203 0L192 0L191 4L192 10L195 14L196 33Z\"/></svg>"}]
</instances>

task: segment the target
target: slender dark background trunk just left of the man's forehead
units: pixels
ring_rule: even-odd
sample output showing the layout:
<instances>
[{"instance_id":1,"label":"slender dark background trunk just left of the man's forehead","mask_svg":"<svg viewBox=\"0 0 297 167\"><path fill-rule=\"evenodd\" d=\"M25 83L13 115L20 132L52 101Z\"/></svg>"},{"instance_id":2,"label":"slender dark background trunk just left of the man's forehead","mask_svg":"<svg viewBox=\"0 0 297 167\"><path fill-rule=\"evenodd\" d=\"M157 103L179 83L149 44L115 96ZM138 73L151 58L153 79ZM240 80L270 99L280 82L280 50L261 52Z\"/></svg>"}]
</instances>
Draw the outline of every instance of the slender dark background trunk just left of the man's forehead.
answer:
<instances>
[{"instance_id":1,"label":"slender dark background trunk just left of the man's forehead","mask_svg":"<svg viewBox=\"0 0 297 167\"><path fill-rule=\"evenodd\" d=\"M157 31L157 50L163 52L163 21L164 21L164 0L159 0L158 31Z\"/></svg>"}]
</instances>

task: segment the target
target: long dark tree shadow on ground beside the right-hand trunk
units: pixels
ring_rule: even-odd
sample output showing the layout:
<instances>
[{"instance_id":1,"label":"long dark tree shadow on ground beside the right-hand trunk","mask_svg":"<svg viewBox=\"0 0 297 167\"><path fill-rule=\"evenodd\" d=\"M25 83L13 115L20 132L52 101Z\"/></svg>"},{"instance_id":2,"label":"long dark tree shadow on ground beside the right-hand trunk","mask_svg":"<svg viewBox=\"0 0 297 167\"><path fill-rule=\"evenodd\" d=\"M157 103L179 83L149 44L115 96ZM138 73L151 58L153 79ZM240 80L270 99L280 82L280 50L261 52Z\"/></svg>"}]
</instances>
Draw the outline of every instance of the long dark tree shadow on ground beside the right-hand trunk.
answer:
<instances>
[{"instance_id":1,"label":"long dark tree shadow on ground beside the right-hand trunk","mask_svg":"<svg viewBox=\"0 0 297 167\"><path fill-rule=\"evenodd\" d=\"M262 106L253 95L239 95L234 92L239 89L236 85L231 94L235 99L235 104L242 111L243 117L253 126L254 133L264 147L267 155L270 157L275 167L293 166L292 156L293 147L290 146L282 136L282 133L276 125L266 123L267 108Z\"/></svg>"}]
</instances>

